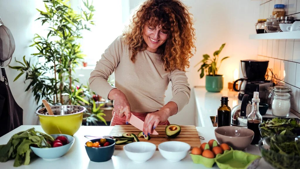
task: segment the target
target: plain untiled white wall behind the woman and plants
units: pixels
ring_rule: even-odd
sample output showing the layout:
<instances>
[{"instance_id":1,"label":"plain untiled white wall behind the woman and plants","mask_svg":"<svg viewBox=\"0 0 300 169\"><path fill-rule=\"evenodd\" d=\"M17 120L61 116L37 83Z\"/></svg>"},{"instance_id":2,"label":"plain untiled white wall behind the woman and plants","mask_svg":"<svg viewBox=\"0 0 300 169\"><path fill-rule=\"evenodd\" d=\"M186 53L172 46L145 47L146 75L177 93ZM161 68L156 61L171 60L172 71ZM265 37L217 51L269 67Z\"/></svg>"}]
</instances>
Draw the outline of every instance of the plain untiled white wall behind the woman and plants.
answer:
<instances>
[{"instance_id":1,"label":"plain untiled white wall behind the woman and plants","mask_svg":"<svg viewBox=\"0 0 300 169\"><path fill-rule=\"evenodd\" d=\"M137 3L137 0L130 0L130 2ZM202 55L206 53L212 55L221 44L226 43L220 56L230 56L230 58L223 62L219 73L225 75L224 88L227 88L227 82L233 81L233 71L238 69L239 61L257 57L258 43L255 40L249 40L248 37L249 34L255 33L254 23L259 17L259 1L183 0L183 2L191 7L190 12L195 19L197 36L197 51L190 59L190 68L187 69L190 87L205 85L205 78L200 79L198 68L194 67L199 60L202 60ZM0 1L0 16L16 41L16 51L10 65L16 65L15 57L17 60L21 60L24 55L29 58L34 52L34 48L28 46L32 44L34 33L40 31L40 22L34 20L38 16L35 8L42 8L42 6L43 2L36 0ZM31 91L24 92L28 82L23 83L25 77L13 82L18 74L17 71L6 68L6 72L16 102L24 110L24 124L37 124L38 118L34 115L37 104L33 94ZM81 79L88 78L89 71L86 72L87 75ZM82 83L86 84L85 81ZM170 86L166 96L166 101L170 100ZM179 125L194 125L194 113L195 101L192 90L190 103L177 115L170 117L170 122Z\"/></svg>"}]
</instances>

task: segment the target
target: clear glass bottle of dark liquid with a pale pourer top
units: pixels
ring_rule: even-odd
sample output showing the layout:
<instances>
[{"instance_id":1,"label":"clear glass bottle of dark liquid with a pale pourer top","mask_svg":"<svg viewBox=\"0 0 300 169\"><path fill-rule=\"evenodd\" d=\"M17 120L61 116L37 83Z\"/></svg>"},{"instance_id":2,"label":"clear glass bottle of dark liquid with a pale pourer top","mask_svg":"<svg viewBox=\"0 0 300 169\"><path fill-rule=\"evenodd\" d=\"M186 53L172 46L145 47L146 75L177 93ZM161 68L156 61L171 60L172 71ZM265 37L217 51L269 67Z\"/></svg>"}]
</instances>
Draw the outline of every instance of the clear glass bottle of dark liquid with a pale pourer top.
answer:
<instances>
[{"instance_id":1,"label":"clear glass bottle of dark liquid with a pale pourer top","mask_svg":"<svg viewBox=\"0 0 300 169\"><path fill-rule=\"evenodd\" d=\"M253 93L253 99L252 99L252 111L247 117L247 127L251 129L254 132L254 137L251 142L251 144L258 144L260 137L260 132L258 125L262 122L262 115L259 113L259 92Z\"/></svg>"}]
</instances>

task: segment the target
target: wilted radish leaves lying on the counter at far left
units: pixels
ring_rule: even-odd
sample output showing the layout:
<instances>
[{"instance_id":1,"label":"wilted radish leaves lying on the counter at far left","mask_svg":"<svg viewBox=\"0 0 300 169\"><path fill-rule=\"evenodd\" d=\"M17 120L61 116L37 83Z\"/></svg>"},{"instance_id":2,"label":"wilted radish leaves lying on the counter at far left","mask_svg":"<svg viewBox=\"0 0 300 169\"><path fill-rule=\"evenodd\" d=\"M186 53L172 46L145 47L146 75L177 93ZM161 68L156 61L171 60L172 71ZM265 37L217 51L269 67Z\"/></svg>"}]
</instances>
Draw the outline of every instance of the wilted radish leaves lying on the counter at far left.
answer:
<instances>
[{"instance_id":1,"label":"wilted radish leaves lying on the counter at far left","mask_svg":"<svg viewBox=\"0 0 300 169\"><path fill-rule=\"evenodd\" d=\"M0 162L14 158L14 167L19 167L22 164L28 165L32 152L30 146L51 147L47 141L52 142L54 138L49 134L35 131L35 128L14 134L7 144L0 145Z\"/></svg>"}]
</instances>

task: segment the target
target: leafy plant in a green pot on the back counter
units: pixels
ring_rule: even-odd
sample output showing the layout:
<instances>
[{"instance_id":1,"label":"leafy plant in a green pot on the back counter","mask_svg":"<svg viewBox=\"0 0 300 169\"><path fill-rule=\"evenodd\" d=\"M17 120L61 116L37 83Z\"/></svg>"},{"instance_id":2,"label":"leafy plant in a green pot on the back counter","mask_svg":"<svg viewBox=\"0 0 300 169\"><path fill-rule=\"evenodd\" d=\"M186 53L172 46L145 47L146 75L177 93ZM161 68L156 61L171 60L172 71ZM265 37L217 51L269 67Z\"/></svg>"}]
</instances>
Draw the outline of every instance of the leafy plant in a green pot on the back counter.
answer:
<instances>
[{"instance_id":1,"label":"leafy plant in a green pot on the back counter","mask_svg":"<svg viewBox=\"0 0 300 169\"><path fill-rule=\"evenodd\" d=\"M198 72L201 70L200 78L205 76L205 89L209 92L220 92L223 89L223 75L217 74L218 69L223 60L227 59L227 57L223 57L220 60L219 66L217 66L219 54L224 48L225 43L221 45L220 49L214 52L214 57L211 58L208 54L203 55L203 59L195 65L199 65L202 63Z\"/></svg>"}]
</instances>

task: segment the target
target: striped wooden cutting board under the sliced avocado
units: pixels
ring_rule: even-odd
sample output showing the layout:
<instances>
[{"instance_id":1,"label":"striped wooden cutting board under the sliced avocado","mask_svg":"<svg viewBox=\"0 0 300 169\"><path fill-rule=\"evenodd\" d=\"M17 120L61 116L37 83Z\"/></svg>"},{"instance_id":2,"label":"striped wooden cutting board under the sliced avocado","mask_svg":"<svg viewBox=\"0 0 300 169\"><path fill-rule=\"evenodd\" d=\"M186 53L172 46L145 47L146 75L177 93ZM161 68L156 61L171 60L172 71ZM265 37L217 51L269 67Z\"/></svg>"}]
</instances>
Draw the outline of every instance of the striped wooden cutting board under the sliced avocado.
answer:
<instances>
[{"instance_id":1,"label":"striped wooden cutting board under the sliced avocado","mask_svg":"<svg viewBox=\"0 0 300 169\"><path fill-rule=\"evenodd\" d=\"M158 150L158 144L163 143L165 141L182 141L185 143L188 143L191 146L191 149L193 147L199 147L201 145L198 132L196 130L195 126L189 126L189 125L182 125L180 134L175 138L168 138L165 132L165 125L159 125L156 127L156 131L158 132L158 135L150 135L150 140L144 139L144 137L140 137L140 141L147 141L150 143L153 143L156 145L156 150ZM117 134L122 133L134 133L135 135L139 134L141 131L137 128L135 128L132 125L115 125L113 129L110 131L110 135L114 136ZM125 144L122 145L116 145L116 150L123 150L123 147Z\"/></svg>"}]
</instances>

